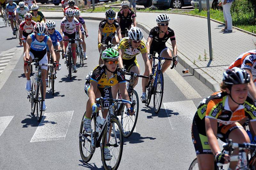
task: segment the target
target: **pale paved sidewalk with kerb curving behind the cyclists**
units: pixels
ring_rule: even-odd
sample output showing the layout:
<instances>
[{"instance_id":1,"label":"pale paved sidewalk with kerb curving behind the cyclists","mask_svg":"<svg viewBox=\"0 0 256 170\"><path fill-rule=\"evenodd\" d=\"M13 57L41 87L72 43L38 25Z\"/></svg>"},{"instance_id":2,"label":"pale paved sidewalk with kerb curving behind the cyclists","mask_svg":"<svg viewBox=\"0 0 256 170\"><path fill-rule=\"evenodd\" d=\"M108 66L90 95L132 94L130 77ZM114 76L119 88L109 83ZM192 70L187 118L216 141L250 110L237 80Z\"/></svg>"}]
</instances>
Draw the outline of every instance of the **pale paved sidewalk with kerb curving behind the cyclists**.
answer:
<instances>
[{"instance_id":1,"label":"pale paved sidewalk with kerb curving behind the cyclists","mask_svg":"<svg viewBox=\"0 0 256 170\"><path fill-rule=\"evenodd\" d=\"M137 12L138 26L149 33L156 26L156 16L160 13ZM101 20L104 12L81 13L84 19ZM169 27L175 32L178 47L179 64L188 68L196 78L213 91L219 90L224 68L230 65L240 54L255 49L255 36L233 29L232 33L223 33L224 25L211 21L213 60L209 60L207 19L181 14L170 16ZM62 19L62 12L44 11L46 19ZM58 23L57 23L58 24ZM98 30L98 28L94 28ZM92 28L88 29L90 34ZM145 37L146 38L146 37ZM171 42L166 44L172 49ZM206 60L204 57L206 51ZM200 57L201 56L201 60Z\"/></svg>"}]
</instances>

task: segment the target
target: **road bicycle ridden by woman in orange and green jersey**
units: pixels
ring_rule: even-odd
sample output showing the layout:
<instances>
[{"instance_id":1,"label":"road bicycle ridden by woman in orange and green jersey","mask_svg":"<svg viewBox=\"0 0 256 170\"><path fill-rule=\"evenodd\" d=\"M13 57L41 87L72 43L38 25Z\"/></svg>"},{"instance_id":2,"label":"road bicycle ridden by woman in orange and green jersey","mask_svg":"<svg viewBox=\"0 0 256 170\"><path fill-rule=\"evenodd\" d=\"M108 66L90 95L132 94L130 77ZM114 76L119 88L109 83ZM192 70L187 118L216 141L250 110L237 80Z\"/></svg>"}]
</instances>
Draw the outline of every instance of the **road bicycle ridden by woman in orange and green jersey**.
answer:
<instances>
[{"instance_id":1,"label":"road bicycle ridden by woman in orange and green jersey","mask_svg":"<svg viewBox=\"0 0 256 170\"><path fill-rule=\"evenodd\" d=\"M233 148L239 148L239 154L238 155L231 155ZM223 150L222 153L226 153L230 156L230 161L238 161L236 165L236 169L238 170L251 170L254 169L252 166L253 164L251 163L251 159L254 159L255 161L255 148L256 144L251 144L251 143L243 143L243 144L238 144L238 143L233 143L232 139L228 140L228 143L223 144ZM247 158L245 149L251 149L254 150L254 155L252 154L252 157L250 159ZM248 163L249 162L249 163ZM215 170L228 170L229 164L221 164L221 163L214 163L214 169ZM189 166L188 170L197 170L199 169L198 167L198 162L197 158L192 161L192 163Z\"/></svg>"}]
</instances>

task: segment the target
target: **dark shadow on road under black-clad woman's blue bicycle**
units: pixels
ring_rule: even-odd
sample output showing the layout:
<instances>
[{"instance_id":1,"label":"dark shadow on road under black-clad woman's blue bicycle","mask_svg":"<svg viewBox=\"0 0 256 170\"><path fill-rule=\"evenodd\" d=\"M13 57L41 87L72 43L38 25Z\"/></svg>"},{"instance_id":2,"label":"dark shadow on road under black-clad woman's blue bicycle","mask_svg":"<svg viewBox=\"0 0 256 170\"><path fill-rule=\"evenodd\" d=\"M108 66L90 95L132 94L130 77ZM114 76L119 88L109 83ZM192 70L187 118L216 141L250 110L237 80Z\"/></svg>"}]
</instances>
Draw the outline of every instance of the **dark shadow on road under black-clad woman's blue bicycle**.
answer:
<instances>
[{"instance_id":1,"label":"dark shadow on road under black-clad woman's blue bicycle","mask_svg":"<svg viewBox=\"0 0 256 170\"><path fill-rule=\"evenodd\" d=\"M141 111L144 111L145 113L150 113L152 115L147 116L148 119L152 119L154 117L171 117L173 115L179 115L180 113L178 112L173 112L173 110L169 110L169 109L160 109L160 111L156 114L153 107L144 107L143 109L141 109Z\"/></svg>"}]
</instances>

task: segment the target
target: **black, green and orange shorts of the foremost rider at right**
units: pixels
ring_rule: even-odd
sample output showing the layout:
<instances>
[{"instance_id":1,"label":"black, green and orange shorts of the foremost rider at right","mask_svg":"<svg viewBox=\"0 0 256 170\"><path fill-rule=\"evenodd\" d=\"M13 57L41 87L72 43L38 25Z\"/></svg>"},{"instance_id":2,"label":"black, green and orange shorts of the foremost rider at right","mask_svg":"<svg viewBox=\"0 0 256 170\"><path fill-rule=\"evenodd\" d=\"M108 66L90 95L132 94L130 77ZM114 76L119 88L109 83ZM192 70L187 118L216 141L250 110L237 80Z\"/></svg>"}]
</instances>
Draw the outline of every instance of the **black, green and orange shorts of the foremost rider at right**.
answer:
<instances>
[{"instance_id":1,"label":"black, green and orange shorts of the foremost rider at right","mask_svg":"<svg viewBox=\"0 0 256 170\"><path fill-rule=\"evenodd\" d=\"M218 126L218 137L223 142L228 142L228 135L231 131L237 128L243 128L241 124L238 122L228 124L228 125L220 125ZM206 134L206 132L204 133ZM194 143L194 147L196 150L196 155L198 154L212 154L212 150L210 148L210 145L208 143L208 138L206 135L200 134L198 132L198 127L196 123L193 121L192 128L191 128L191 135L192 135L192 141Z\"/></svg>"}]
</instances>

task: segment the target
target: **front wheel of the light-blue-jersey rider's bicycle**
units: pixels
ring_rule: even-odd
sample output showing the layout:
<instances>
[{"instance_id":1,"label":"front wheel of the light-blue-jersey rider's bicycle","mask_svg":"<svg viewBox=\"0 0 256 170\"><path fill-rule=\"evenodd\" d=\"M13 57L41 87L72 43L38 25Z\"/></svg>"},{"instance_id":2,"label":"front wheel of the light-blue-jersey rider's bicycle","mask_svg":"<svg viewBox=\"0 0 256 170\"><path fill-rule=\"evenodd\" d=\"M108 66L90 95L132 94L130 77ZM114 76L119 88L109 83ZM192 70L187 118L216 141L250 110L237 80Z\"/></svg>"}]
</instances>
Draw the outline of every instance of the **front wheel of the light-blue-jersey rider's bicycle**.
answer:
<instances>
[{"instance_id":1,"label":"front wheel of the light-blue-jersey rider's bicycle","mask_svg":"<svg viewBox=\"0 0 256 170\"><path fill-rule=\"evenodd\" d=\"M36 90L36 118L38 122L40 122L42 119L42 112L43 112L43 82L40 79L37 83L37 90Z\"/></svg>"}]
</instances>

